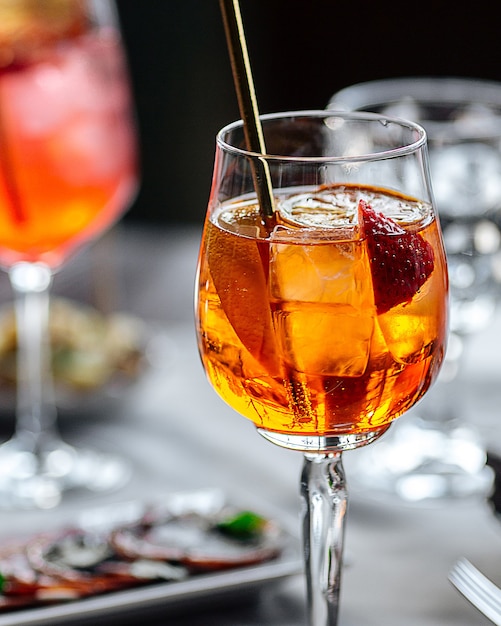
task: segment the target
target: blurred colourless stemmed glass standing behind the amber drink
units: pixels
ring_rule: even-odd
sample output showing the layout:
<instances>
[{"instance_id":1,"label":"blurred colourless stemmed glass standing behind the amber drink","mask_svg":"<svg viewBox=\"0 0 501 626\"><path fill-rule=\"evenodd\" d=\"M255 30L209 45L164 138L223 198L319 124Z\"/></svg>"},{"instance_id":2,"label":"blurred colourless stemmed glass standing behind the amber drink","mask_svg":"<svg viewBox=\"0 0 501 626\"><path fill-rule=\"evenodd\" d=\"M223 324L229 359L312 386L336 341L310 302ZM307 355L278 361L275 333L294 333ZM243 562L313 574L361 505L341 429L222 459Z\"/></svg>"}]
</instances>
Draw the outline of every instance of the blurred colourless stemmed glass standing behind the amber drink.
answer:
<instances>
[{"instance_id":1,"label":"blurred colourless stemmed glass standing behind the amber drink","mask_svg":"<svg viewBox=\"0 0 501 626\"><path fill-rule=\"evenodd\" d=\"M450 279L450 336L439 384L410 419L359 456L354 481L409 502L485 496L493 472L465 412L460 374L468 338L489 325L500 293L501 83L369 81L334 94L328 107L382 112L425 127Z\"/></svg>"}]
</instances>

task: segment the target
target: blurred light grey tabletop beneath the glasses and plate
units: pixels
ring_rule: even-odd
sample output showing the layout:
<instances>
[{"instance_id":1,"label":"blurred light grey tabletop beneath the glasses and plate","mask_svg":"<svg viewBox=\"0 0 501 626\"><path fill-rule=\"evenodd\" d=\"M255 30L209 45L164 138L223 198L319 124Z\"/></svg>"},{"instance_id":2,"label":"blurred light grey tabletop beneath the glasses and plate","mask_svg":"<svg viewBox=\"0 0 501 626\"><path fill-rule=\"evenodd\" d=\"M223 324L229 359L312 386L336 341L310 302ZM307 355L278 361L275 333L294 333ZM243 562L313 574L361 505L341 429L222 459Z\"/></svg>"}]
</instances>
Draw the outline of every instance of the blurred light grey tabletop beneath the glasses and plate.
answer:
<instances>
[{"instance_id":1,"label":"blurred light grey tabletop beneath the glasses and plate","mask_svg":"<svg viewBox=\"0 0 501 626\"><path fill-rule=\"evenodd\" d=\"M220 487L242 502L278 511L299 534L301 455L260 438L205 379L192 312L199 238L200 229L188 226L121 226L56 277L56 293L128 311L151 326L152 362L138 384L102 412L60 418L68 441L118 451L130 461L133 474L127 486L107 496L69 496L51 511L4 511L0 536L62 525L82 510L108 502L148 501L205 487ZM9 297L2 282L0 298ZM462 383L468 419L494 449L501 430L497 425L501 356L493 350L493 336L500 329L496 319L472 341L463 372L467 384ZM364 451L345 455L348 484L351 458L357 454ZM449 568L462 555L501 583L501 525L484 501L410 505L353 489L340 626L488 624L447 580ZM117 623L139 625L144 619L122 614ZM303 579L287 578L248 602L226 600L213 606L193 602L181 613L171 614L168 607L150 611L148 623L304 626Z\"/></svg>"}]
</instances>

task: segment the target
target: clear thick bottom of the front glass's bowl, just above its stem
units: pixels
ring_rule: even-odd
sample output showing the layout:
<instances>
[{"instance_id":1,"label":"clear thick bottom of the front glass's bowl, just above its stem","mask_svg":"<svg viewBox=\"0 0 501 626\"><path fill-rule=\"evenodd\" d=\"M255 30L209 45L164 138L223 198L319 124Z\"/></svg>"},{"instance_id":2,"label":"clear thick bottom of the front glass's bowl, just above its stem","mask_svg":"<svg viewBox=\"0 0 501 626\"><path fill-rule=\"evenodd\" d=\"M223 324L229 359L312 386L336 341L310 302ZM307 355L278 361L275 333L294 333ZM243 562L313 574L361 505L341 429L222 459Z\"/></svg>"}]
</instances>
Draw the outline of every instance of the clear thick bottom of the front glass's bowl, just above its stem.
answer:
<instances>
[{"instance_id":1,"label":"clear thick bottom of the front glass's bowl, just above its stem","mask_svg":"<svg viewBox=\"0 0 501 626\"><path fill-rule=\"evenodd\" d=\"M271 441L271 443L281 446L282 448L288 448L289 450L296 450L303 453L322 454L343 452L344 450L353 450L354 448L366 446L378 439L389 427L388 424L377 431L325 436L288 435L265 430L264 428L258 428L257 432L268 441Z\"/></svg>"}]
</instances>

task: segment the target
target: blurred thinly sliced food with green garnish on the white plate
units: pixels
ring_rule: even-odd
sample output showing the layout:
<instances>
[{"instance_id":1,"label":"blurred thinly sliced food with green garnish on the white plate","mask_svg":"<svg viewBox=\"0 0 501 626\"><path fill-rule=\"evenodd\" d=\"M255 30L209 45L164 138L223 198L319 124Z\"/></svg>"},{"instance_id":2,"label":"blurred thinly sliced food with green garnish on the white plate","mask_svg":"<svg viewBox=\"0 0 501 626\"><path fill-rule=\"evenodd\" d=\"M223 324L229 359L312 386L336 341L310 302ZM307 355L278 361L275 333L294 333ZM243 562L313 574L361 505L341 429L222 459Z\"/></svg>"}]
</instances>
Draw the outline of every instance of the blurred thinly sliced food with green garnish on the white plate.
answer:
<instances>
[{"instance_id":1,"label":"blurred thinly sliced food with green garnish on the white plate","mask_svg":"<svg viewBox=\"0 0 501 626\"><path fill-rule=\"evenodd\" d=\"M282 549L280 528L252 511L209 516L149 507L111 530L75 527L0 547L0 610L257 565Z\"/></svg>"}]
</instances>

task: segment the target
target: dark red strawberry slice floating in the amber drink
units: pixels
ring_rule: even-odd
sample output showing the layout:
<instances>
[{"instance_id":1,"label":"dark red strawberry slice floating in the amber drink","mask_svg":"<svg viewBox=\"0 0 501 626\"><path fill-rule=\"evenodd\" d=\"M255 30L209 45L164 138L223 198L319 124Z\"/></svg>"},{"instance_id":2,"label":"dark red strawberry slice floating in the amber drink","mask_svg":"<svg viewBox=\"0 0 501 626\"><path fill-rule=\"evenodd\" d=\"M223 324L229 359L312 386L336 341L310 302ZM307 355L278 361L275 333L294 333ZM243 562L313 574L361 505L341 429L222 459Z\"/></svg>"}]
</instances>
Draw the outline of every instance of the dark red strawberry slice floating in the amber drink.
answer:
<instances>
[{"instance_id":1,"label":"dark red strawberry slice floating in the amber drink","mask_svg":"<svg viewBox=\"0 0 501 626\"><path fill-rule=\"evenodd\" d=\"M360 200L364 232L379 314L409 303L433 271L433 248L419 233L405 231L394 220Z\"/></svg>"}]
</instances>

